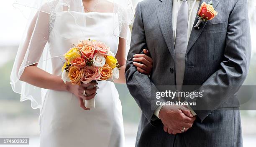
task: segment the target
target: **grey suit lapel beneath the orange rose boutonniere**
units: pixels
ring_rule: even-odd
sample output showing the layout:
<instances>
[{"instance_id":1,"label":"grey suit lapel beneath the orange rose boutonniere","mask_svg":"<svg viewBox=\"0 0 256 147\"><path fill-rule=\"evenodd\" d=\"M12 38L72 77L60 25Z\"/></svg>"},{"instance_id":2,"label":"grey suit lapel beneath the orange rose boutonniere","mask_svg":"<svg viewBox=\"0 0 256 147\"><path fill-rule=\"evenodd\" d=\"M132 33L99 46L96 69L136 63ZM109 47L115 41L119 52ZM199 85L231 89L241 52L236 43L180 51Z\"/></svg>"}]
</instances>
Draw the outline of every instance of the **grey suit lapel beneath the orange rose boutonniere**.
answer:
<instances>
[{"instance_id":1,"label":"grey suit lapel beneath the orange rose boutonniere","mask_svg":"<svg viewBox=\"0 0 256 147\"><path fill-rule=\"evenodd\" d=\"M210 0L201 0L200 1L200 5L198 7L198 10L200 9L201 4L203 2L208 3L208 2L210 2ZM212 0L212 3L213 3L213 7L215 9L217 7L217 5L219 4L219 1L218 0ZM187 45L186 55L191 50L192 46L195 44L195 42L197 41L198 37L201 35L202 31L204 30L205 25L207 24L207 22L202 23L202 24L200 24L200 29L197 29L197 28L194 28L194 26L197 24L197 21L198 21L198 19L196 17L194 25L193 25L193 28L192 28L192 31L191 31L191 35L189 37L189 42L188 42L188 45Z\"/></svg>"}]
</instances>

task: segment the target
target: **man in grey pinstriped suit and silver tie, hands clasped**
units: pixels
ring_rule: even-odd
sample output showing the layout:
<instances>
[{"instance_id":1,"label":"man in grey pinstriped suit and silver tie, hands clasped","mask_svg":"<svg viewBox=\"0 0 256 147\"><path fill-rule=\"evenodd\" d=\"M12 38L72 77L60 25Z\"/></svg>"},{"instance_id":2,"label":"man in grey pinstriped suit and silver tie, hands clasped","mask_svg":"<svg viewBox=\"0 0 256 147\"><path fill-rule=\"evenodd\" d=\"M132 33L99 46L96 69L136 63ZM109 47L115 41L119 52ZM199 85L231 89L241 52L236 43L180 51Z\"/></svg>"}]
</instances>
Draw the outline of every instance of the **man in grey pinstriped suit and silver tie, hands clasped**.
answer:
<instances>
[{"instance_id":1,"label":"man in grey pinstriped suit and silver tie, hands clasped","mask_svg":"<svg viewBox=\"0 0 256 147\"><path fill-rule=\"evenodd\" d=\"M194 27L203 2L210 0L144 0L137 5L125 73L142 111L136 147L243 146L236 92L251 57L247 0L212 0L218 15L211 9L215 17ZM140 63L133 55L144 47L154 60L150 76L139 72L146 67L138 71L134 66ZM165 90L202 95L157 97ZM189 105L159 105L166 102Z\"/></svg>"}]
</instances>

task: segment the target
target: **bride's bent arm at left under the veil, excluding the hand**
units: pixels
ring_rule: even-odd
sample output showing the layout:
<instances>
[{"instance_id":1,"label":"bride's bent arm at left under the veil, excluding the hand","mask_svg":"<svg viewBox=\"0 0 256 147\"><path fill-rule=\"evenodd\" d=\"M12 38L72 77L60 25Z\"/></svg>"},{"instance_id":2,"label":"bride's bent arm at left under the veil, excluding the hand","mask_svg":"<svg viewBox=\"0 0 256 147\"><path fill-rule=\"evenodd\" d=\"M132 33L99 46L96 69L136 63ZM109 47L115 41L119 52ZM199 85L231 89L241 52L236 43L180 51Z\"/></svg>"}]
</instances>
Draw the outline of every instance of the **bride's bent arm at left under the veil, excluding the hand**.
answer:
<instances>
[{"instance_id":1,"label":"bride's bent arm at left under the veil, excluding the hand","mask_svg":"<svg viewBox=\"0 0 256 147\"><path fill-rule=\"evenodd\" d=\"M26 41L24 42L22 51L19 55L17 71L21 68L23 60L31 60L32 63L39 61L40 55L44 50L48 38L49 14L38 11L28 27ZM26 52L28 56L27 58L25 56ZM36 87L67 91L67 87L65 83L61 81L61 77L51 75L50 73L41 70L37 67L37 63L25 67L22 75L20 75L20 80Z\"/></svg>"}]
</instances>

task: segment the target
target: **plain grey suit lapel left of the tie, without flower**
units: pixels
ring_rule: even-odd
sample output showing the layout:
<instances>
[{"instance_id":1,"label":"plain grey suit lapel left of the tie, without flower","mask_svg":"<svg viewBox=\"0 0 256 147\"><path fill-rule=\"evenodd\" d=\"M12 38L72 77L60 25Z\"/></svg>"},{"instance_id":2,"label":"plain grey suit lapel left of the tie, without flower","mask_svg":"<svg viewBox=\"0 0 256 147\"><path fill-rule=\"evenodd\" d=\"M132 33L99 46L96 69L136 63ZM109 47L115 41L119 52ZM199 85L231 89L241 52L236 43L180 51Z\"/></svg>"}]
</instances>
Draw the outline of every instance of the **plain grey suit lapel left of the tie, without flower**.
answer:
<instances>
[{"instance_id":1,"label":"plain grey suit lapel left of the tie, without flower","mask_svg":"<svg viewBox=\"0 0 256 147\"><path fill-rule=\"evenodd\" d=\"M174 39L172 32L172 0L160 1L161 3L156 5L157 18L168 50L171 53L172 58L175 59Z\"/></svg>"}]
</instances>

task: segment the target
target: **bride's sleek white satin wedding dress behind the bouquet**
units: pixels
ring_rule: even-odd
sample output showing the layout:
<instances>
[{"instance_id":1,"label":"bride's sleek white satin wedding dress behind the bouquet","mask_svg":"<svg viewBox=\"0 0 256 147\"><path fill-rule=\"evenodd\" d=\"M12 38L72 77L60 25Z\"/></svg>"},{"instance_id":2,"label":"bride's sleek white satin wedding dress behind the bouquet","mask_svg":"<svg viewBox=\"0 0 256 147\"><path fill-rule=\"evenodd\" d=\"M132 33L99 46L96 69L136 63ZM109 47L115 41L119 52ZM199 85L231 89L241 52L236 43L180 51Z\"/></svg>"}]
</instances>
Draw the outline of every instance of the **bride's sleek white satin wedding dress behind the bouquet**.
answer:
<instances>
[{"instance_id":1,"label":"bride's sleek white satin wedding dress behind the bouquet","mask_svg":"<svg viewBox=\"0 0 256 147\"><path fill-rule=\"evenodd\" d=\"M77 17L76 22L72 15ZM88 38L105 42L116 54L119 37L108 29L113 25L113 18L118 21L117 14L111 12L58 12L49 35L50 55L68 51L72 43ZM60 76L62 61L52 58L51 62L53 74ZM123 147L118 92L112 82L98 83L96 107L90 111L80 108L79 100L72 93L46 90L39 117L40 147Z\"/></svg>"}]
</instances>

